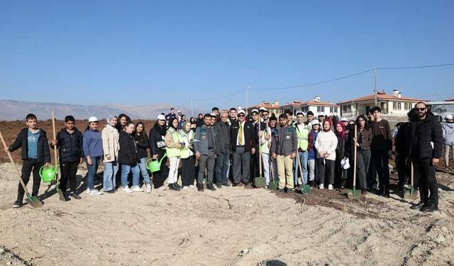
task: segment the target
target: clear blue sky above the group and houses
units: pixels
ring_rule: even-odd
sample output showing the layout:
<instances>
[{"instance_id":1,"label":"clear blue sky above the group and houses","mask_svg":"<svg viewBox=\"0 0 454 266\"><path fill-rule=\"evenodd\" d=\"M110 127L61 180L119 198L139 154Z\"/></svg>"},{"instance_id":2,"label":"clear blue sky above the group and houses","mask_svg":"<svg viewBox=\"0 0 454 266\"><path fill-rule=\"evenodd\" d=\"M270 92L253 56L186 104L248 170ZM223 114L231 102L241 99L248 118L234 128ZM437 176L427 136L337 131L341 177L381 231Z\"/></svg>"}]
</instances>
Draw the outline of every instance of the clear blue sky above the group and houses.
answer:
<instances>
[{"instance_id":1,"label":"clear blue sky above the group and houses","mask_svg":"<svg viewBox=\"0 0 454 266\"><path fill-rule=\"evenodd\" d=\"M454 62L454 1L0 1L0 99L174 104ZM454 67L381 70L380 89L454 97ZM373 74L250 104L372 94ZM441 92L441 96L431 96ZM194 101L245 105L245 93Z\"/></svg>"}]
</instances>

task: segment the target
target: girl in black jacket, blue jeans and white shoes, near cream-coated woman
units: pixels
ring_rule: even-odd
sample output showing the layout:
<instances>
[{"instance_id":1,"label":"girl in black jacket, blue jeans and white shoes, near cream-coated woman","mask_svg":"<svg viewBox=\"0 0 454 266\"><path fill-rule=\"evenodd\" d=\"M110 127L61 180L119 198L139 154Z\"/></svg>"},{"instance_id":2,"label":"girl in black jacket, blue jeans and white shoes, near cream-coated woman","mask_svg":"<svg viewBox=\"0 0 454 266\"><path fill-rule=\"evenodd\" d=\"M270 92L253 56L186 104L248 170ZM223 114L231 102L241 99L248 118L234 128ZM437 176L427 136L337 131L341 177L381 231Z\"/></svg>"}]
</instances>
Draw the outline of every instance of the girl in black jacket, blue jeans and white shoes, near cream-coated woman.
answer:
<instances>
[{"instance_id":1,"label":"girl in black jacket, blue jeans and white shoes, near cream-coated woman","mask_svg":"<svg viewBox=\"0 0 454 266\"><path fill-rule=\"evenodd\" d=\"M121 186L123 192L143 192L139 187L140 169L138 165L137 144L133 137L134 123L128 122L123 131L120 132L118 150L118 163L121 165ZM133 187L131 189L128 185L128 174L133 172Z\"/></svg>"}]
</instances>

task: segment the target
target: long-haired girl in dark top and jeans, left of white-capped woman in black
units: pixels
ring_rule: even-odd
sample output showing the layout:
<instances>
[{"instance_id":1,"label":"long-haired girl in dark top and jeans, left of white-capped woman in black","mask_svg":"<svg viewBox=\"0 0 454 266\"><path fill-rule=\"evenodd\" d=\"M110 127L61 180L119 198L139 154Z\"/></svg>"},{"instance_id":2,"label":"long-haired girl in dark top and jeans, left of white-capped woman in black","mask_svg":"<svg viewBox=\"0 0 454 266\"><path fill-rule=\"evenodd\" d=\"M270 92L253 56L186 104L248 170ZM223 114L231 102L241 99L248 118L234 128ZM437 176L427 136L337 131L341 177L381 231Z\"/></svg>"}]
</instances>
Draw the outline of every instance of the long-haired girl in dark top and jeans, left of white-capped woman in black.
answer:
<instances>
[{"instance_id":1,"label":"long-haired girl in dark top and jeans, left of white-capped woman in black","mask_svg":"<svg viewBox=\"0 0 454 266\"><path fill-rule=\"evenodd\" d=\"M147 160L148 153L147 149L150 147L150 139L148 138L147 133L145 133L145 125L142 122L138 122L135 125L135 143L137 144L137 153L138 153L138 165L140 173L143 177L143 182L147 187L147 193L151 193L151 181L150 175L147 170Z\"/></svg>"}]
</instances>

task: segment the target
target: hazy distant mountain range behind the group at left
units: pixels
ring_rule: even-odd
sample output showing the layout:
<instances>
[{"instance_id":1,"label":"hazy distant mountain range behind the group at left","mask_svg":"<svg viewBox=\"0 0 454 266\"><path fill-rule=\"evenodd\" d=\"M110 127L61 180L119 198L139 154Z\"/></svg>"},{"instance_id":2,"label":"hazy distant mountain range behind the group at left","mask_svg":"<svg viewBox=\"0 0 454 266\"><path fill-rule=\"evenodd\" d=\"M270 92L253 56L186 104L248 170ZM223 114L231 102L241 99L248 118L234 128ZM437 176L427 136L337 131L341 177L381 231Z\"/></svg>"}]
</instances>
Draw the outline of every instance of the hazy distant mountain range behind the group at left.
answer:
<instances>
[{"instance_id":1,"label":"hazy distant mountain range behind the group at left","mask_svg":"<svg viewBox=\"0 0 454 266\"><path fill-rule=\"evenodd\" d=\"M120 113L126 113L132 119L155 119L160 113L169 113L172 106L168 104L154 104L141 106L126 105L79 105L79 104L57 104L57 103L38 103L31 101L10 101L0 100L0 120L13 121L23 120L28 113L35 113L39 120L50 119L51 111L55 111L57 119L63 119L67 115L72 115L76 119L87 119L89 116L96 116L104 119L109 114L118 116ZM191 110L182 110L187 116L191 116ZM175 111L177 111L175 110ZM194 110L194 115L200 111Z\"/></svg>"}]
</instances>

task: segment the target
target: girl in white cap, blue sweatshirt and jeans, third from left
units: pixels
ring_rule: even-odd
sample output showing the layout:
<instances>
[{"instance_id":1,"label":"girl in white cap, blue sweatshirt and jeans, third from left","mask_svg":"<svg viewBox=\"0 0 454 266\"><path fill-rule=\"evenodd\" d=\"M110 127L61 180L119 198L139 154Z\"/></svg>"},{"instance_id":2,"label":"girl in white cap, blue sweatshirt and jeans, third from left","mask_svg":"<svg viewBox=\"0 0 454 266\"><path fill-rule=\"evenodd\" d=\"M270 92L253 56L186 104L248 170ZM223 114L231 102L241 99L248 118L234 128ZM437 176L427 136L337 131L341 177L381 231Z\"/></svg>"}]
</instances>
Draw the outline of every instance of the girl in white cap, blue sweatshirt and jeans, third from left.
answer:
<instances>
[{"instance_id":1,"label":"girl in white cap, blue sweatshirt and jeans, third from left","mask_svg":"<svg viewBox=\"0 0 454 266\"><path fill-rule=\"evenodd\" d=\"M102 192L94 189L94 176L98 171L99 162L103 156L102 136L98 131L98 118L88 118L87 129L82 134L82 147L84 150L85 163L87 163L87 194L99 196Z\"/></svg>"}]
</instances>

